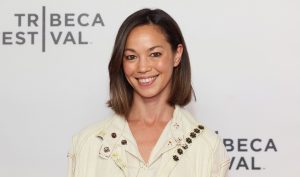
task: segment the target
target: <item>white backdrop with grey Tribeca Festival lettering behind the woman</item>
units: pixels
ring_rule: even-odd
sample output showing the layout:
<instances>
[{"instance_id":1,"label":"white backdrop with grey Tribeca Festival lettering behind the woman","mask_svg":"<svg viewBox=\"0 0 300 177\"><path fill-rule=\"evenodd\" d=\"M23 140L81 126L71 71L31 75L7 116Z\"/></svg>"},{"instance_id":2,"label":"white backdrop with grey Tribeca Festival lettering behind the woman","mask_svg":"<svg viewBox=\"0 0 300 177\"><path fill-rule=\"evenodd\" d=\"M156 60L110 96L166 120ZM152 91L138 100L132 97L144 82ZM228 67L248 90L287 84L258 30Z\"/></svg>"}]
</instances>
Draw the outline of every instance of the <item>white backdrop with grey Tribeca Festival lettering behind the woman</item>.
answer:
<instances>
[{"instance_id":1,"label":"white backdrop with grey Tribeca Festival lettering behind the woman","mask_svg":"<svg viewBox=\"0 0 300 177\"><path fill-rule=\"evenodd\" d=\"M161 8L179 23L197 101L232 177L300 174L300 2L0 2L0 176L66 176L71 137L111 114L107 65L122 21Z\"/></svg>"}]
</instances>

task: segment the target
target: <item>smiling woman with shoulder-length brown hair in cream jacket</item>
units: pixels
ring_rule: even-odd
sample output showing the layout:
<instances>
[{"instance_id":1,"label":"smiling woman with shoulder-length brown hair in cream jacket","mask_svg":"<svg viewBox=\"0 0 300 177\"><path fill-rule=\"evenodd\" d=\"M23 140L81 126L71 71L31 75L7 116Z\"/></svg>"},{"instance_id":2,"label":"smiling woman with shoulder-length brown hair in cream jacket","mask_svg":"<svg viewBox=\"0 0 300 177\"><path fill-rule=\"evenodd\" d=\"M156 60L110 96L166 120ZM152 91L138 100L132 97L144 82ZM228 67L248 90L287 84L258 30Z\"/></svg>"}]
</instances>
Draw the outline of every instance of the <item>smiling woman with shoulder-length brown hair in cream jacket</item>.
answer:
<instances>
[{"instance_id":1,"label":"smiling woman with shoulder-length brown hair in cream jacket","mask_svg":"<svg viewBox=\"0 0 300 177\"><path fill-rule=\"evenodd\" d=\"M164 11L121 25L109 63L115 115L74 136L69 177L223 177L221 139L182 106L193 95L187 48Z\"/></svg>"}]
</instances>

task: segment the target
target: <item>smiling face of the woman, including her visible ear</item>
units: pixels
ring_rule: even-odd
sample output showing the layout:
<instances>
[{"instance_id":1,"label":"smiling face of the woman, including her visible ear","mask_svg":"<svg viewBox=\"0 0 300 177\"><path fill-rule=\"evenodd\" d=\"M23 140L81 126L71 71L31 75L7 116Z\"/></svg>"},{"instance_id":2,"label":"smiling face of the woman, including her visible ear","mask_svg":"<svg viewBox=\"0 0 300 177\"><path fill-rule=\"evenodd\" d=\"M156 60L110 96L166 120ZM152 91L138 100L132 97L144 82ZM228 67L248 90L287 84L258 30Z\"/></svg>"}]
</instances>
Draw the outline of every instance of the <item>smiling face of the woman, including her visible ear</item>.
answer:
<instances>
[{"instance_id":1,"label":"smiling face of the woman, including her visible ear","mask_svg":"<svg viewBox=\"0 0 300 177\"><path fill-rule=\"evenodd\" d=\"M154 98L170 94L173 68L180 63L183 47L174 52L158 26L134 28L126 41L123 69L134 96Z\"/></svg>"}]
</instances>

